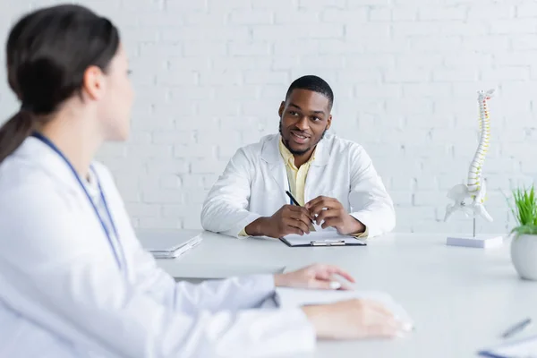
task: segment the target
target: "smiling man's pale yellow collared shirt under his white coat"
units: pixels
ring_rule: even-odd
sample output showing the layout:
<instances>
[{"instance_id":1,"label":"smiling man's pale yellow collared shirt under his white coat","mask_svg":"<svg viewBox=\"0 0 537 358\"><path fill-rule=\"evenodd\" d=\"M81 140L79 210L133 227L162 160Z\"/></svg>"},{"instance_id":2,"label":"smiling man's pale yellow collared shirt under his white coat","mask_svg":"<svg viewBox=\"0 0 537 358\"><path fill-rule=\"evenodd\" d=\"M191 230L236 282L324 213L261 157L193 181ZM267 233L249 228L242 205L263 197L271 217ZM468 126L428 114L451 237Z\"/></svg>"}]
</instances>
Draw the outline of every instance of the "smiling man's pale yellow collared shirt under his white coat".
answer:
<instances>
[{"instance_id":1,"label":"smiling man's pale yellow collared shirt under his white coat","mask_svg":"<svg viewBox=\"0 0 537 358\"><path fill-rule=\"evenodd\" d=\"M300 168L297 168L294 165L294 156L293 153L289 151L289 149L286 148L283 141L279 141L279 150L280 154L282 155L282 158L284 158L284 162L286 163L286 172L287 172L287 180L289 181L289 191L293 194L294 199L298 201L300 205L305 205L305 199L304 199L304 190L306 187L306 177L308 176L308 172L310 171L311 162L315 160L315 150L313 150L313 153L311 153L310 159L305 162ZM313 229L313 226L310 227L310 229ZM241 233L239 233L239 236L248 236L246 234L245 228ZM365 231L361 234L354 234L356 237L367 237L368 236L368 229L367 226L365 226Z\"/></svg>"}]
</instances>

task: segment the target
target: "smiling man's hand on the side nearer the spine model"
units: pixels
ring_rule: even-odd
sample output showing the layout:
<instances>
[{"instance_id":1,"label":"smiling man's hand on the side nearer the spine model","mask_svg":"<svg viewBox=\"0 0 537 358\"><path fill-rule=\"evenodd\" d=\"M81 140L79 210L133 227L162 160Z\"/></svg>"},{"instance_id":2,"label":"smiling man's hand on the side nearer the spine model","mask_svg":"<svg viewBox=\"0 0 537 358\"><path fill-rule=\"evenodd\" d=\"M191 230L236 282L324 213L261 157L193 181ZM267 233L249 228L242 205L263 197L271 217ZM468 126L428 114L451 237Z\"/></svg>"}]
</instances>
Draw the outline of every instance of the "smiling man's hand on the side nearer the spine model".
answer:
<instances>
[{"instance_id":1,"label":"smiling man's hand on the side nearer the spine model","mask_svg":"<svg viewBox=\"0 0 537 358\"><path fill-rule=\"evenodd\" d=\"M316 217L317 225L322 223L320 227L323 229L334 227L339 234L360 234L365 231L365 226L347 213L337 199L319 196L306 203L305 209Z\"/></svg>"}]
</instances>

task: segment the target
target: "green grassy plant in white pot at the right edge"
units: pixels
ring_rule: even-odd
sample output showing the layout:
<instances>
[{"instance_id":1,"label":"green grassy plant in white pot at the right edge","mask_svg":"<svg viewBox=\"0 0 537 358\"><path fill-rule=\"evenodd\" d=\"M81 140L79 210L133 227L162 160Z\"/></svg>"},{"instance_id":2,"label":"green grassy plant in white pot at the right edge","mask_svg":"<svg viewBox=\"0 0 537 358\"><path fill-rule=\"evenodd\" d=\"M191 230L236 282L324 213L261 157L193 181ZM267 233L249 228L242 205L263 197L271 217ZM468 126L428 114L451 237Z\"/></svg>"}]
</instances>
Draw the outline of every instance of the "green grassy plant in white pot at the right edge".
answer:
<instances>
[{"instance_id":1,"label":"green grassy plant in white pot at the right edge","mask_svg":"<svg viewBox=\"0 0 537 358\"><path fill-rule=\"evenodd\" d=\"M511 231L511 260L520 277L537 280L537 201L533 185L514 190L513 200L516 227Z\"/></svg>"}]
</instances>

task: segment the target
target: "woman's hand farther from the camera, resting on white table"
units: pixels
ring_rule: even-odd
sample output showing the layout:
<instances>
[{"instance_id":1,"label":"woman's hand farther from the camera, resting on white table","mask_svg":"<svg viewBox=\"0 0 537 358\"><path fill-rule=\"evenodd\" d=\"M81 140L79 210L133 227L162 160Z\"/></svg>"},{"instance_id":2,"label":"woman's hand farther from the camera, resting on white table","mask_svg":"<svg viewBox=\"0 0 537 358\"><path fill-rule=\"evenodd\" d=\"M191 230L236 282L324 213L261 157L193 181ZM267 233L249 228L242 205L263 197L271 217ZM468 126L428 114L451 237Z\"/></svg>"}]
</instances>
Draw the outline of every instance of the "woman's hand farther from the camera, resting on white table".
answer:
<instances>
[{"instance_id":1,"label":"woman's hand farther from the camera, resting on white table","mask_svg":"<svg viewBox=\"0 0 537 358\"><path fill-rule=\"evenodd\" d=\"M316 289L349 289L345 282L336 280L335 276L344 277L354 283L354 278L343 269L331 265L314 264L286 274L275 275L277 287L316 288Z\"/></svg>"}]
</instances>

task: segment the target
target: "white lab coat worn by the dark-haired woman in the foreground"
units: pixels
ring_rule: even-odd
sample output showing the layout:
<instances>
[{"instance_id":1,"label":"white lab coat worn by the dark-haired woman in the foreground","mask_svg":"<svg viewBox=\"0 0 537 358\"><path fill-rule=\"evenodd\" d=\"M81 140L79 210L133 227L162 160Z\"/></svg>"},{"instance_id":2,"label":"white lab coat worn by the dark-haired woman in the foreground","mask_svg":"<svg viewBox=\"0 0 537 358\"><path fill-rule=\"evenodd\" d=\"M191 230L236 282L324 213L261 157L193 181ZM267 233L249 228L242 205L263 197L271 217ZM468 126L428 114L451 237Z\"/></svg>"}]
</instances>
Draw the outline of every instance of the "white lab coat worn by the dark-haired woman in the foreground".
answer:
<instances>
[{"instance_id":1,"label":"white lab coat worn by the dark-haired woman in the foreground","mask_svg":"<svg viewBox=\"0 0 537 358\"><path fill-rule=\"evenodd\" d=\"M273 294L271 276L175 284L141 248L107 169L95 167L122 269L52 149L28 138L0 165L0 356L251 357L314 348L303 311L252 310Z\"/></svg>"}]
</instances>

